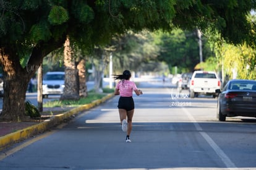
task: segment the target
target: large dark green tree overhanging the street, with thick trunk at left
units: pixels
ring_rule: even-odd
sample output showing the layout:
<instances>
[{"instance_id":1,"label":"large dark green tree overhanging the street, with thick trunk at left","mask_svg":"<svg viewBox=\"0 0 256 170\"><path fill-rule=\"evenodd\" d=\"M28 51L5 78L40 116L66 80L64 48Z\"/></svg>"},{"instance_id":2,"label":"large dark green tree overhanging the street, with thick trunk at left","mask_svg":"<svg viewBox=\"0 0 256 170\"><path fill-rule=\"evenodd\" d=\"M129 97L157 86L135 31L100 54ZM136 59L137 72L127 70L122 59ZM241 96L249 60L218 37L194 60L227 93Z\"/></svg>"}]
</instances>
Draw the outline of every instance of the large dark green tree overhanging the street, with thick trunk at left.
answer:
<instances>
[{"instance_id":1,"label":"large dark green tree overhanging the street, with thick trunk at left","mask_svg":"<svg viewBox=\"0 0 256 170\"><path fill-rule=\"evenodd\" d=\"M23 119L25 92L43 57L61 48L66 36L80 48L109 42L127 30L216 28L226 40L255 41L245 16L254 1L9 0L0 5L0 63L4 75L1 118ZM21 62L23 61L23 62Z\"/></svg>"}]
</instances>

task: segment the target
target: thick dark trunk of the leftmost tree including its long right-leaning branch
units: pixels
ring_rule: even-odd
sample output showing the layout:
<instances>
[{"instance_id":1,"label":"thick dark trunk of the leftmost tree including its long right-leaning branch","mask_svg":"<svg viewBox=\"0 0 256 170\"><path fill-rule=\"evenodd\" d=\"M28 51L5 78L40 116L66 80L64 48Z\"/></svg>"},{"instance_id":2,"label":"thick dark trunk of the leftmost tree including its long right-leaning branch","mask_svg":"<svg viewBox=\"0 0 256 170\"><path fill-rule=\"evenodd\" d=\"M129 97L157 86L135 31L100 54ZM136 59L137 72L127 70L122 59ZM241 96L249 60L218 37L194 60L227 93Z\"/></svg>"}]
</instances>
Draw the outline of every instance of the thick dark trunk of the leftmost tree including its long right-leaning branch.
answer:
<instances>
[{"instance_id":1,"label":"thick dark trunk of the leftmost tree including its long right-leaning branch","mask_svg":"<svg viewBox=\"0 0 256 170\"><path fill-rule=\"evenodd\" d=\"M4 75L4 97L0 119L5 121L22 121L25 117L25 96L28 82L40 67L43 57L54 49L63 46L64 40L41 41L33 46L27 66L20 65L20 57L12 46L0 47L0 64Z\"/></svg>"}]
</instances>

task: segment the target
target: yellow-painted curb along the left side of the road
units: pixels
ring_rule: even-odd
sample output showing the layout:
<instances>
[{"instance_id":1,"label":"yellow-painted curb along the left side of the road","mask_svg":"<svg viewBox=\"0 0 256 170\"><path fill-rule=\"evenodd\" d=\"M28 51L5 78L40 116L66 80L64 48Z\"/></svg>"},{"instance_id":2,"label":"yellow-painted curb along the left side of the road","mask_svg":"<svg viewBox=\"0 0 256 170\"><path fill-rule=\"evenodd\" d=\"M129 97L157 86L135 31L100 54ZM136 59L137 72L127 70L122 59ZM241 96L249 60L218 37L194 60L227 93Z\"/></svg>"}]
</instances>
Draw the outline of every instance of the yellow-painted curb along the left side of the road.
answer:
<instances>
[{"instance_id":1,"label":"yellow-painted curb along the left side of the road","mask_svg":"<svg viewBox=\"0 0 256 170\"><path fill-rule=\"evenodd\" d=\"M33 137L37 134L41 134L54 126L61 124L62 122L66 122L67 120L72 119L72 117L74 117L81 111L91 109L101 103L104 103L106 100L112 98L113 96L114 93L108 94L101 98L101 100L95 100L92 103L84 104L78 108L70 109L70 111L66 111L64 113L52 116L39 124L32 125L30 127L18 130L17 132L13 132L8 135L4 135L3 137L0 137L0 150L1 148L7 147L8 145L11 145L13 143L20 142L21 140Z\"/></svg>"}]
</instances>

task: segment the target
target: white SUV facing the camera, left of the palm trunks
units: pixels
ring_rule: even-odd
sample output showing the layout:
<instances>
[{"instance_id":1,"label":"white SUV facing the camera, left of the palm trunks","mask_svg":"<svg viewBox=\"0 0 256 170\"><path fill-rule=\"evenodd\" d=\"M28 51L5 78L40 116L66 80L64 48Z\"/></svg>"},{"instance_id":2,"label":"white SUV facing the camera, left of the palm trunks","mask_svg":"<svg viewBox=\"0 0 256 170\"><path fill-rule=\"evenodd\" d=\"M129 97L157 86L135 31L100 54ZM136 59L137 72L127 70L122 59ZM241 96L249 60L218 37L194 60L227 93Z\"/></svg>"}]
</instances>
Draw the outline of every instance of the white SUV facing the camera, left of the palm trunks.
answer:
<instances>
[{"instance_id":1,"label":"white SUV facing the camera, left of the palm trunks","mask_svg":"<svg viewBox=\"0 0 256 170\"><path fill-rule=\"evenodd\" d=\"M43 98L61 95L64 90L65 72L47 72L43 77Z\"/></svg>"}]
</instances>

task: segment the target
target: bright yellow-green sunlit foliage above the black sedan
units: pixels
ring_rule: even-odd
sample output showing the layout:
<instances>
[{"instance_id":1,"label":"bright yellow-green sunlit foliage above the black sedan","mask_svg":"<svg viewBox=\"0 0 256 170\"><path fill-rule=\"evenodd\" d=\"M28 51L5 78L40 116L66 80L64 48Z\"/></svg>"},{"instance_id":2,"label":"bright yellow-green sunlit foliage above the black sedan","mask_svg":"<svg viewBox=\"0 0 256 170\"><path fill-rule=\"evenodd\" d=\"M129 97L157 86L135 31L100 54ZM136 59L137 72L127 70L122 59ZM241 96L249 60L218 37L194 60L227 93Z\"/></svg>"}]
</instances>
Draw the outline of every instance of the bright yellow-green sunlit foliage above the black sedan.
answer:
<instances>
[{"instance_id":1,"label":"bright yellow-green sunlit foliage above the black sedan","mask_svg":"<svg viewBox=\"0 0 256 170\"><path fill-rule=\"evenodd\" d=\"M255 15L248 15L252 25L255 25ZM227 43L218 32L205 32L215 58L216 70L221 72L221 78L225 84L229 79L252 79L256 78L256 52L255 45L242 43L234 45Z\"/></svg>"}]
</instances>

